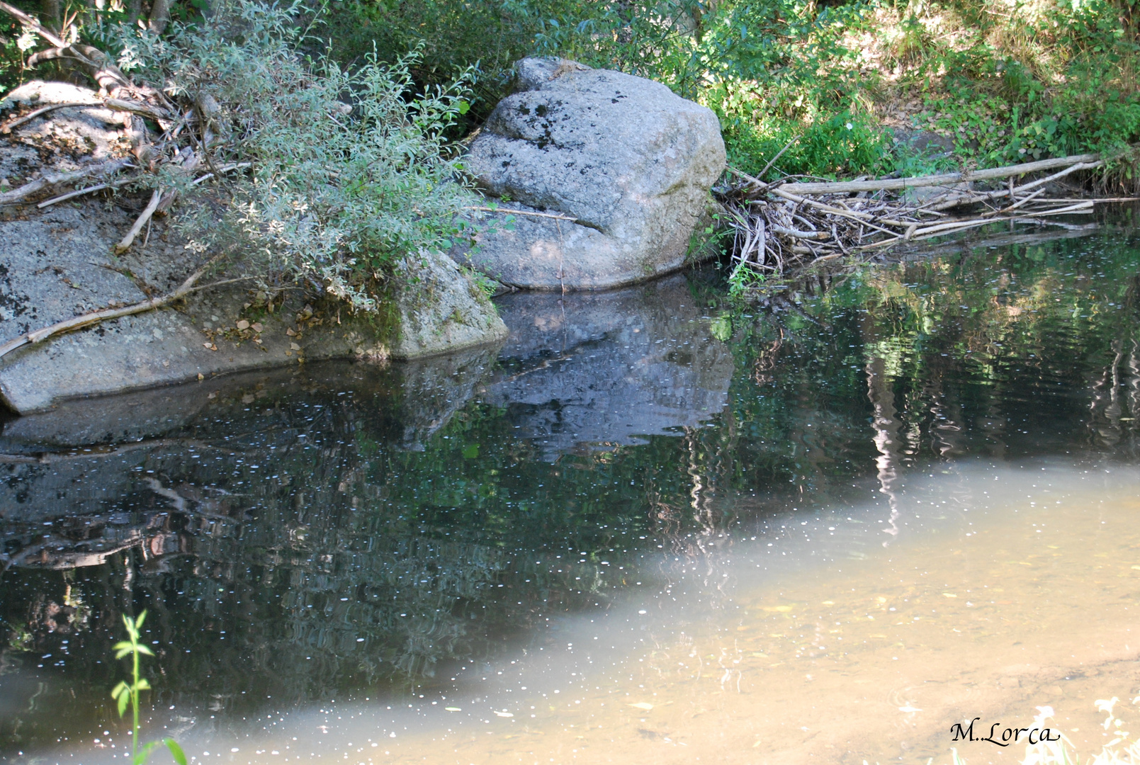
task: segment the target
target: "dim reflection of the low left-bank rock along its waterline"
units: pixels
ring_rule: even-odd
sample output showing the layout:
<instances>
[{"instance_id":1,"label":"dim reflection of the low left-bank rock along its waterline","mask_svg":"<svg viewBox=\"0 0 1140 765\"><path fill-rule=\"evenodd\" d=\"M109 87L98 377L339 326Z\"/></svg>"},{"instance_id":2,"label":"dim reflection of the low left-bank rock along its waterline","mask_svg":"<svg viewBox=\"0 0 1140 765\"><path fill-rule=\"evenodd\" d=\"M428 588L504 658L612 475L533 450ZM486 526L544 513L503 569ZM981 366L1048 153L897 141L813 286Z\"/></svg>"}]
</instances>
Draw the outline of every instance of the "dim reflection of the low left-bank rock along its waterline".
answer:
<instances>
[{"instance_id":1,"label":"dim reflection of the low left-bank rock along its waterline","mask_svg":"<svg viewBox=\"0 0 1140 765\"><path fill-rule=\"evenodd\" d=\"M22 536L14 534L13 523L98 516L99 545L89 543L88 531L64 534L66 544L38 545L58 551L38 558L48 567L55 567L48 558L65 550L78 553L74 543L81 543L84 555L139 544L146 535L137 529L112 534L116 524L99 518L166 510L174 500L155 494L155 480L194 474L203 486L225 485L235 458L239 465L259 465L261 474L295 475L290 459L306 445L329 438L320 431L321 417L327 418L321 413L334 408L343 409L339 416L349 423L366 424L363 430L377 442L420 450L471 398L492 355L494 349L484 348L383 368L328 363L234 375L70 401L9 421L0 432L5 536ZM351 402L343 394L348 391ZM164 471L150 470L155 463Z\"/></svg>"}]
</instances>

